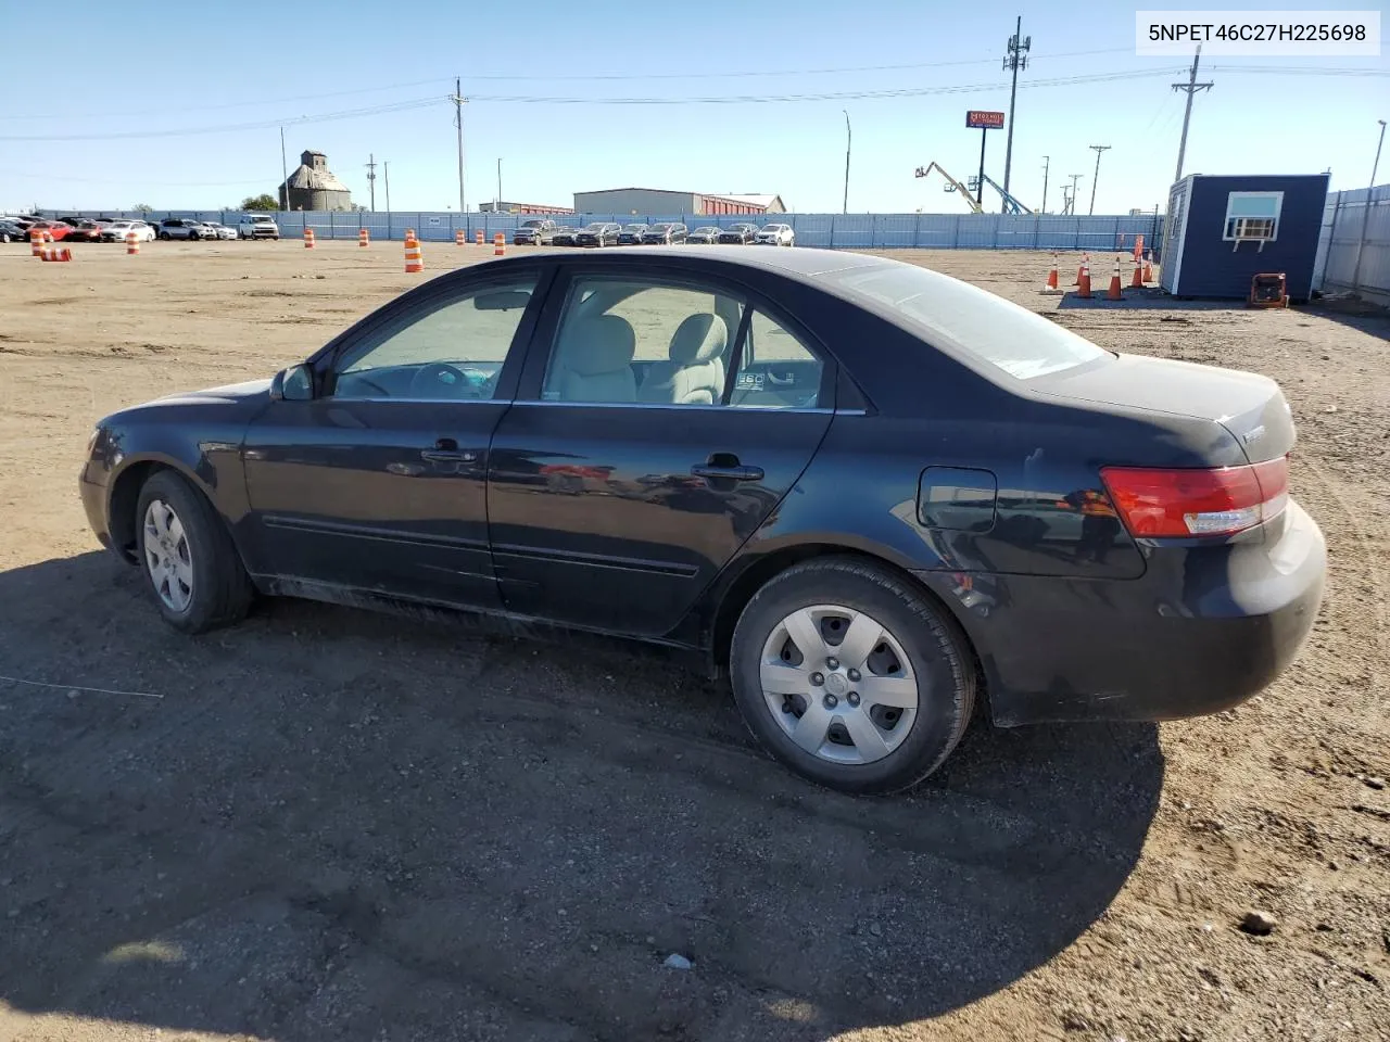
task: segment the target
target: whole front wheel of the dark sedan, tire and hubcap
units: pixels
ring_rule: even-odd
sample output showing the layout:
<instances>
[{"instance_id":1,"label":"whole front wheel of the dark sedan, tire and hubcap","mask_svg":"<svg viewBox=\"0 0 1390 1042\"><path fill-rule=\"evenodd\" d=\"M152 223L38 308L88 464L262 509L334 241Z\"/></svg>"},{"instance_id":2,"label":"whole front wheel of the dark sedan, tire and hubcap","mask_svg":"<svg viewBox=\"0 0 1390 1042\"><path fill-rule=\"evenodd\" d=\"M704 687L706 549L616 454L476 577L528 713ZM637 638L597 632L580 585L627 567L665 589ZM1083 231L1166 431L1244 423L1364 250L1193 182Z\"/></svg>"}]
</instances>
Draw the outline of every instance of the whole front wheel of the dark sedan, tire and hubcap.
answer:
<instances>
[{"instance_id":1,"label":"whole front wheel of the dark sedan, tire and hubcap","mask_svg":"<svg viewBox=\"0 0 1390 1042\"><path fill-rule=\"evenodd\" d=\"M252 603L252 582L213 504L172 471L140 489L136 546L164 621L186 634L236 622Z\"/></svg>"}]
</instances>

